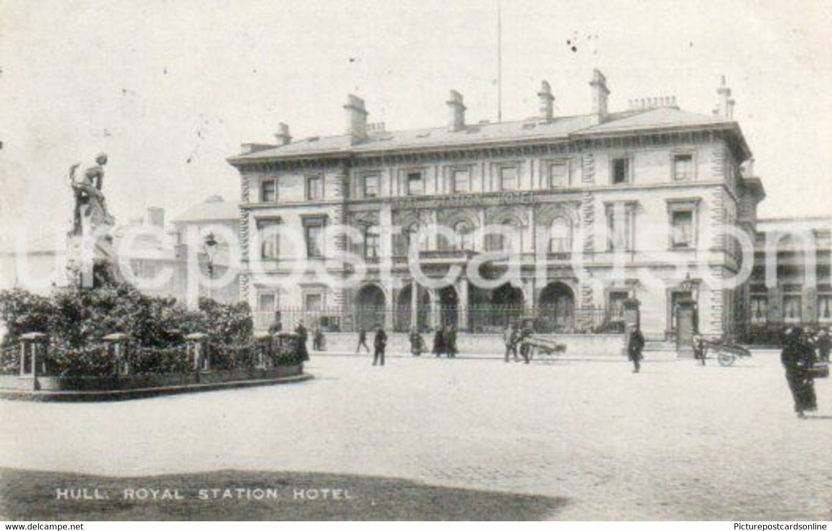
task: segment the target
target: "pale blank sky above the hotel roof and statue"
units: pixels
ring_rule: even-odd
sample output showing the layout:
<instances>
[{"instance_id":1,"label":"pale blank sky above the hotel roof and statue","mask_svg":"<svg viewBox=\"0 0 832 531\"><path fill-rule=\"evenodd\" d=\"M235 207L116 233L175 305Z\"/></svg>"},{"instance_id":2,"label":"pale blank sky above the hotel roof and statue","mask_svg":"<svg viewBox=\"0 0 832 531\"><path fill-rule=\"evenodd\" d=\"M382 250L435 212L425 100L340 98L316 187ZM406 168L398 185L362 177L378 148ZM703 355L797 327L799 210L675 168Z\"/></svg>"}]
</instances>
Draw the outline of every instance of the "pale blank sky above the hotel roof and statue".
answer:
<instances>
[{"instance_id":1,"label":"pale blank sky above the hotel roof and statue","mask_svg":"<svg viewBox=\"0 0 832 531\"><path fill-rule=\"evenodd\" d=\"M443 125L451 88L468 121L495 120L496 13L497 0L0 0L0 216L64 230L67 168L102 150L119 222L236 199L225 157L280 121L295 138L340 134L350 91L389 130ZM760 214L827 214L830 34L832 2L503 0L503 119L537 112L542 79L557 114L586 113L593 67L612 111L675 95L707 114L724 74L768 191Z\"/></svg>"}]
</instances>

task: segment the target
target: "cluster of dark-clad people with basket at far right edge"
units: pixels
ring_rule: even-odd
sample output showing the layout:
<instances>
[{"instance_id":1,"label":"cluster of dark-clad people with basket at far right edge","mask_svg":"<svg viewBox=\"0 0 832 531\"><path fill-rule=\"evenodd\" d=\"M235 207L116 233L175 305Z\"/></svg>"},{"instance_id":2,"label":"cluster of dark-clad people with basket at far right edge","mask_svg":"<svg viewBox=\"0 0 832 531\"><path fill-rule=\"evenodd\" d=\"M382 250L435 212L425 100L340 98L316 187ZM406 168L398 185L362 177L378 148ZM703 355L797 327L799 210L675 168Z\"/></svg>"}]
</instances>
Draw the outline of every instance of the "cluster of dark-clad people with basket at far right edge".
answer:
<instances>
[{"instance_id":1,"label":"cluster of dark-clad people with basket at far right edge","mask_svg":"<svg viewBox=\"0 0 832 531\"><path fill-rule=\"evenodd\" d=\"M818 399L815 395L815 377L828 376L819 371L819 362L829 362L832 350L832 338L826 330L813 333L800 327L785 331L780 362L785 369L785 380L789 384L792 399L795 401L795 413L805 417L806 411L817 411Z\"/></svg>"}]
</instances>

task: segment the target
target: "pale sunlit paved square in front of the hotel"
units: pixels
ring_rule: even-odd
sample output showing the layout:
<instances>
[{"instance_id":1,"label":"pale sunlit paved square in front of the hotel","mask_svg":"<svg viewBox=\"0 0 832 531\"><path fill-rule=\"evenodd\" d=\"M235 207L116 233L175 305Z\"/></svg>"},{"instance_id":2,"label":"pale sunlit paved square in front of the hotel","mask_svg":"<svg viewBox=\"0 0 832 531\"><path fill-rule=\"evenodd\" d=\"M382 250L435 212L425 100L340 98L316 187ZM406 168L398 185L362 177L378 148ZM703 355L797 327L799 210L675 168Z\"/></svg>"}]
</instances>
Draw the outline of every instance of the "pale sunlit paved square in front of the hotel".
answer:
<instances>
[{"instance_id":1,"label":"pale sunlit paved square in front of the hotel","mask_svg":"<svg viewBox=\"0 0 832 531\"><path fill-rule=\"evenodd\" d=\"M779 357L317 356L298 385L106 404L0 402L0 466L105 475L372 474L567 499L557 519L830 519L832 383L797 420ZM25 426L25 427L24 427Z\"/></svg>"}]
</instances>

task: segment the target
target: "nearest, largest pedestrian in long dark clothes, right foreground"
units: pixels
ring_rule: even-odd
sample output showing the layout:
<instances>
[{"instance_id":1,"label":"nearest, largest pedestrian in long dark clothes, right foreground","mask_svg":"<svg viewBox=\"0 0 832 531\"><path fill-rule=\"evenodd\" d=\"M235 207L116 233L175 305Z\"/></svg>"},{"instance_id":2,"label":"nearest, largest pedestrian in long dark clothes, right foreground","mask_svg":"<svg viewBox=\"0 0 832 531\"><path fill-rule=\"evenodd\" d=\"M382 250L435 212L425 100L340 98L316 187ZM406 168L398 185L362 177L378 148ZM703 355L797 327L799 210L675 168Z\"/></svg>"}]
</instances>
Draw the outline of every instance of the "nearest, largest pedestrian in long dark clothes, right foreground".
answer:
<instances>
[{"instance_id":1,"label":"nearest, largest pedestrian in long dark clothes, right foreground","mask_svg":"<svg viewBox=\"0 0 832 531\"><path fill-rule=\"evenodd\" d=\"M814 349L800 327L793 327L785 332L780 362L785 369L785 379L795 402L795 413L800 418L805 416L805 411L818 409L815 380L811 373L814 358Z\"/></svg>"}]
</instances>

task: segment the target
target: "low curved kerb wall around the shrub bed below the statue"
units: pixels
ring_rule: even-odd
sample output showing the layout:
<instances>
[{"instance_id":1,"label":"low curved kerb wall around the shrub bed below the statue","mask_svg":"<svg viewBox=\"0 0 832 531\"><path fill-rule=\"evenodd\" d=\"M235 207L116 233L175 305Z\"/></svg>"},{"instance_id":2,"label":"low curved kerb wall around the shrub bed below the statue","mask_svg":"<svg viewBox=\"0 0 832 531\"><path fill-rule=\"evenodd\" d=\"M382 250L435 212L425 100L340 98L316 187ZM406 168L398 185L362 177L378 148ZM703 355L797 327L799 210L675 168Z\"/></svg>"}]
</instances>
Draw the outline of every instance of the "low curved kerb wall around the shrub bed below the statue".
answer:
<instances>
[{"instance_id":1,"label":"low curved kerb wall around the shrub bed below the statue","mask_svg":"<svg viewBox=\"0 0 832 531\"><path fill-rule=\"evenodd\" d=\"M117 398L118 395L123 395L121 398L138 398L166 394L173 390L187 392L235 385L264 385L265 383L278 383L283 379L298 379L300 376L304 376L303 364L136 376L2 375L0 376L0 395L25 399L32 398L32 396L24 395L35 394L40 396L37 400L49 400L47 396L55 395L62 396L63 400L72 400L68 396L74 394L87 396L85 400L108 400Z\"/></svg>"}]
</instances>

